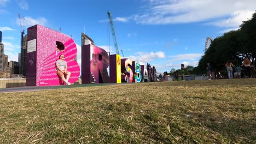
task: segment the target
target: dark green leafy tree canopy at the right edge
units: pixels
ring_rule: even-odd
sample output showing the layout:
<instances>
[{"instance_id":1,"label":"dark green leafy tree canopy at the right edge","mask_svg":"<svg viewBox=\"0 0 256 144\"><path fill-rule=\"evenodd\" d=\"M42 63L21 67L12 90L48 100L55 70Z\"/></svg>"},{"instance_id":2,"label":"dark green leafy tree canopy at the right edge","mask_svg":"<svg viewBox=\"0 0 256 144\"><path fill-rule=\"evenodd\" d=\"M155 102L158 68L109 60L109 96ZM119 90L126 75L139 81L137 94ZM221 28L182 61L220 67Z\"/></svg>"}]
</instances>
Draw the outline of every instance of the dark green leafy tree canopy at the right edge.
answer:
<instances>
[{"instance_id":1,"label":"dark green leafy tree canopy at the right edge","mask_svg":"<svg viewBox=\"0 0 256 144\"><path fill-rule=\"evenodd\" d=\"M207 63L211 64L212 70L221 71L225 69L227 61L241 65L246 57L255 64L256 13L253 14L252 19L243 21L237 31L224 33L214 39L194 71L197 74L205 73Z\"/></svg>"}]
</instances>

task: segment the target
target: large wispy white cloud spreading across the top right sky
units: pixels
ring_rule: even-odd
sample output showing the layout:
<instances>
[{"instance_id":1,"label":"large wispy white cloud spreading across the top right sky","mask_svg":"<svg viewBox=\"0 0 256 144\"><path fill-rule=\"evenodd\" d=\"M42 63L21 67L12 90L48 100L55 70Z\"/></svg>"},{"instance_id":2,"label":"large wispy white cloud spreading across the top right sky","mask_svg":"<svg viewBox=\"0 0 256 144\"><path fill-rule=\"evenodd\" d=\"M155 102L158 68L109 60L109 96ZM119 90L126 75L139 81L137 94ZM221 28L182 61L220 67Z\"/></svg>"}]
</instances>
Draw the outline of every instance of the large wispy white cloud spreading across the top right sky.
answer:
<instances>
[{"instance_id":1,"label":"large wispy white cloud spreading across the top right sky","mask_svg":"<svg viewBox=\"0 0 256 144\"><path fill-rule=\"evenodd\" d=\"M150 0L146 12L133 15L133 20L147 25L211 20L215 25L224 26L225 23L225 27L237 27L243 20L252 17L255 5L254 0Z\"/></svg>"}]
</instances>

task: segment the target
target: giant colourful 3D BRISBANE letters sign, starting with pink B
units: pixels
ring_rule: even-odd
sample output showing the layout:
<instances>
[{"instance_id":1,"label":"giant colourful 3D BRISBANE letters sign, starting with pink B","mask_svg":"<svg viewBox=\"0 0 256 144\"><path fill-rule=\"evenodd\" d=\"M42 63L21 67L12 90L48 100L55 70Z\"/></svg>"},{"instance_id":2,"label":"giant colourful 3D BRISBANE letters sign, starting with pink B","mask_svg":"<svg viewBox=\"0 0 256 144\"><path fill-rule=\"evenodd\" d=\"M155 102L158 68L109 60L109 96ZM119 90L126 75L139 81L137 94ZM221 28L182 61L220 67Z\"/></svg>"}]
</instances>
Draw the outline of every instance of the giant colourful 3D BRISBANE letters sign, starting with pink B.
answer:
<instances>
[{"instance_id":1,"label":"giant colourful 3D BRISBANE letters sign, starting with pink B","mask_svg":"<svg viewBox=\"0 0 256 144\"><path fill-rule=\"evenodd\" d=\"M79 76L82 84L149 81L148 68L139 62L121 59L120 55L108 55L101 47L91 44L82 45L81 49L79 67L75 61L77 45L71 37L40 25L29 27L26 86L63 85L63 80L56 74L56 61L61 55L65 56L67 70L71 73L70 83L77 81Z\"/></svg>"}]
</instances>

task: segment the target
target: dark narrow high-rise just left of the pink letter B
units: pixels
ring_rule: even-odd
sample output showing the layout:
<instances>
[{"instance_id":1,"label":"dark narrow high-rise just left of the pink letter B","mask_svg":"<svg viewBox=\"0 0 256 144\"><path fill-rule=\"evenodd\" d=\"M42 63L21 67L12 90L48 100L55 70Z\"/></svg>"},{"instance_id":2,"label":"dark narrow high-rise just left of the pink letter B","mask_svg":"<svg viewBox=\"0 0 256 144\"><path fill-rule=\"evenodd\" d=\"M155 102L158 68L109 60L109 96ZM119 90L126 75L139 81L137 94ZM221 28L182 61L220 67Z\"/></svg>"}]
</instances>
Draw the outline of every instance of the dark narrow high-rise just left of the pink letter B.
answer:
<instances>
[{"instance_id":1,"label":"dark narrow high-rise just left of the pink letter B","mask_svg":"<svg viewBox=\"0 0 256 144\"><path fill-rule=\"evenodd\" d=\"M22 34L23 36L23 34ZM27 63L27 35L22 37L21 55L20 55L20 74L26 76L26 63Z\"/></svg>"}]
</instances>

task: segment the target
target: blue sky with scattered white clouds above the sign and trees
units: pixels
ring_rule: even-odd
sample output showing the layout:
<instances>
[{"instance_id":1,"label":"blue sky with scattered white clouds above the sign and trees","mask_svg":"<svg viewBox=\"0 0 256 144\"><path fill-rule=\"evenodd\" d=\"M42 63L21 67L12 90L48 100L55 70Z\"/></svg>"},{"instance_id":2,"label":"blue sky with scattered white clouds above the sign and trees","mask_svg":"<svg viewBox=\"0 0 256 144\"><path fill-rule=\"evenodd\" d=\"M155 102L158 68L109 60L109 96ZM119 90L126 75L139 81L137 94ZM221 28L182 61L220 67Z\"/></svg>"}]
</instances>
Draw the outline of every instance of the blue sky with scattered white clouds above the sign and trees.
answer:
<instances>
[{"instance_id":1,"label":"blue sky with scattered white clouds above the sign and trees","mask_svg":"<svg viewBox=\"0 0 256 144\"><path fill-rule=\"evenodd\" d=\"M181 63L196 67L206 37L214 39L237 29L252 17L255 5L255 0L0 0L0 31L9 61L18 61L20 52L18 14L25 29L36 24L55 31L61 28L62 33L72 35L78 52L85 28L96 46L107 51L110 46L110 52L115 53L111 32L108 34L110 10L119 52L123 50L132 61L150 63L164 72L180 69Z\"/></svg>"}]
</instances>

